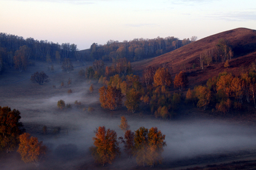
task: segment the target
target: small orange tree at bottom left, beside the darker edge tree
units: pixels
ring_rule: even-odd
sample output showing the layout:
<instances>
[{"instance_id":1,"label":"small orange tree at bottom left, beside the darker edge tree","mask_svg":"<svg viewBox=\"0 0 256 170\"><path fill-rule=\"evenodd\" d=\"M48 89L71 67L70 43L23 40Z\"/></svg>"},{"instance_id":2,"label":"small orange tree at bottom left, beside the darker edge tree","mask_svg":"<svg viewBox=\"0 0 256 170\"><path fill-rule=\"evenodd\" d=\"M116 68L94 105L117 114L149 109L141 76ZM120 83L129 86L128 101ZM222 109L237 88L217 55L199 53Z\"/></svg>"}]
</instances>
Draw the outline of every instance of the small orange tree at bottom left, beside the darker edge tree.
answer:
<instances>
[{"instance_id":1,"label":"small orange tree at bottom left, beside the darker edge tree","mask_svg":"<svg viewBox=\"0 0 256 170\"><path fill-rule=\"evenodd\" d=\"M43 155L46 154L46 146L42 145L42 141L38 141L37 137L30 137L29 133L19 136L18 153L22 156L24 162L34 162L36 166Z\"/></svg>"}]
</instances>

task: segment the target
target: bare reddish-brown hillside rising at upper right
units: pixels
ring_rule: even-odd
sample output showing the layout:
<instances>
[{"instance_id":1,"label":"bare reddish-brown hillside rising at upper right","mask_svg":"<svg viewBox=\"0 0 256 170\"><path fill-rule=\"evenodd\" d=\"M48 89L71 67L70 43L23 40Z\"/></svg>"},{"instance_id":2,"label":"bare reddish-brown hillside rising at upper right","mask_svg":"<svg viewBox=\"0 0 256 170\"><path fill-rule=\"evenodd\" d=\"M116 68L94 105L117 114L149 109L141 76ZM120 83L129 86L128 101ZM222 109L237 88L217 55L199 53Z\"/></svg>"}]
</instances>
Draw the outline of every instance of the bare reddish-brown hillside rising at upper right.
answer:
<instances>
[{"instance_id":1,"label":"bare reddish-brown hillside rising at upper right","mask_svg":"<svg viewBox=\"0 0 256 170\"><path fill-rule=\"evenodd\" d=\"M234 57L229 63L230 67L225 69L223 63L212 63L203 70L199 69L199 67L197 69L191 69L193 63L199 66L198 59L200 54L204 50L214 49L221 38L228 40L234 52ZM195 84L201 84L207 81L209 77L217 76L224 70L236 75L239 72L239 67L242 65L248 67L255 58L256 31L238 28L211 35L152 59L134 62L133 69L141 74L146 66L165 63L168 66L172 66L173 75L185 68L188 72L189 81Z\"/></svg>"}]
</instances>

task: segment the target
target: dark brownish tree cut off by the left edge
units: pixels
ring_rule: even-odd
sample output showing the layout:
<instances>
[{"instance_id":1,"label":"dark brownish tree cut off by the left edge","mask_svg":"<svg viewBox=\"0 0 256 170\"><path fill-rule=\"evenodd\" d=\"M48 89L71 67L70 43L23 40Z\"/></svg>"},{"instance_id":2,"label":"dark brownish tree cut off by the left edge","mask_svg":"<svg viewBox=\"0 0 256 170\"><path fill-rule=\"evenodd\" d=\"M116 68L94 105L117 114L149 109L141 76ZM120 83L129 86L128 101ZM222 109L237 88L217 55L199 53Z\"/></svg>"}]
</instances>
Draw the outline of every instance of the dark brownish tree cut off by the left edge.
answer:
<instances>
[{"instance_id":1,"label":"dark brownish tree cut off by the left edge","mask_svg":"<svg viewBox=\"0 0 256 170\"><path fill-rule=\"evenodd\" d=\"M23 127L19 122L20 118L18 110L0 106L0 150L6 150L9 153L16 147Z\"/></svg>"}]
</instances>

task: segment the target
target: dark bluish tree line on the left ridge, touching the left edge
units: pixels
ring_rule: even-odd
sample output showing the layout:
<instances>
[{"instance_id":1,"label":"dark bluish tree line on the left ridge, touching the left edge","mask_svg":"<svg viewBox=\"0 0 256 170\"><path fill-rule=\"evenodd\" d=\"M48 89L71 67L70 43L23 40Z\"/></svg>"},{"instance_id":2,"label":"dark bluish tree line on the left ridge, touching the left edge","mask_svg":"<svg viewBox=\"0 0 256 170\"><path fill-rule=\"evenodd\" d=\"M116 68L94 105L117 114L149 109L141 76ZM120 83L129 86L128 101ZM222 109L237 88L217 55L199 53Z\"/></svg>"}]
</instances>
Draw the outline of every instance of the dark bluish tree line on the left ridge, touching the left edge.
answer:
<instances>
[{"instance_id":1,"label":"dark bluish tree line on the left ridge, touching the left edge","mask_svg":"<svg viewBox=\"0 0 256 170\"><path fill-rule=\"evenodd\" d=\"M47 40L0 33L0 73L7 67L15 67L20 72L26 70L34 61L53 61L60 63L64 59L80 61L77 45L54 43Z\"/></svg>"}]
</instances>

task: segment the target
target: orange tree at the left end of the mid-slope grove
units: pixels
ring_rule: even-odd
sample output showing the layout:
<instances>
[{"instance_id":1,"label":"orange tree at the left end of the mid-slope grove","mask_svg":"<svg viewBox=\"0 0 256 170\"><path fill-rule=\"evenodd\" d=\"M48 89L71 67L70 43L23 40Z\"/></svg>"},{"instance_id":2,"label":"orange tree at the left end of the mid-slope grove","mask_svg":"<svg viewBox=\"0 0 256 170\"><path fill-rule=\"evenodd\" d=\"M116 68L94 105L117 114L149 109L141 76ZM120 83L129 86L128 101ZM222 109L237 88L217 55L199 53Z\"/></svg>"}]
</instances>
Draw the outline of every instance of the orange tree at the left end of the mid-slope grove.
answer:
<instances>
[{"instance_id":1,"label":"orange tree at the left end of the mid-slope grove","mask_svg":"<svg viewBox=\"0 0 256 170\"><path fill-rule=\"evenodd\" d=\"M117 106L122 104L123 95L120 89L116 87L105 86L99 88L100 104L102 108L116 110Z\"/></svg>"}]
</instances>

